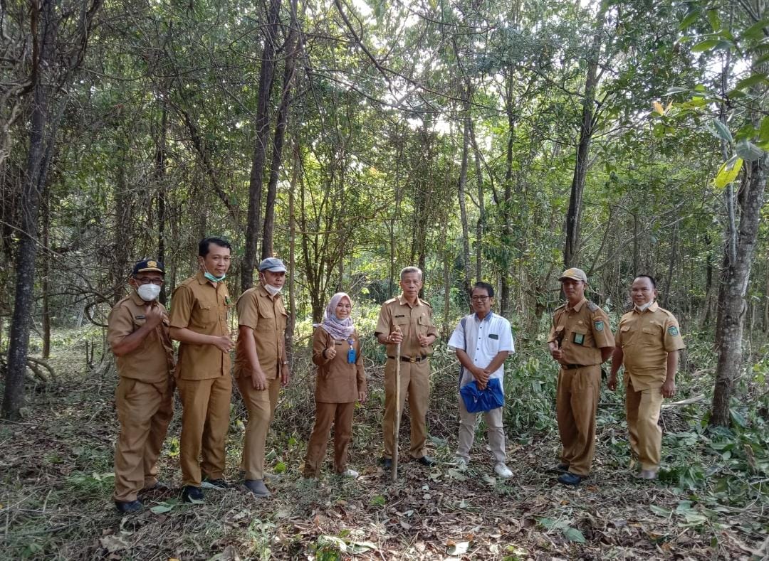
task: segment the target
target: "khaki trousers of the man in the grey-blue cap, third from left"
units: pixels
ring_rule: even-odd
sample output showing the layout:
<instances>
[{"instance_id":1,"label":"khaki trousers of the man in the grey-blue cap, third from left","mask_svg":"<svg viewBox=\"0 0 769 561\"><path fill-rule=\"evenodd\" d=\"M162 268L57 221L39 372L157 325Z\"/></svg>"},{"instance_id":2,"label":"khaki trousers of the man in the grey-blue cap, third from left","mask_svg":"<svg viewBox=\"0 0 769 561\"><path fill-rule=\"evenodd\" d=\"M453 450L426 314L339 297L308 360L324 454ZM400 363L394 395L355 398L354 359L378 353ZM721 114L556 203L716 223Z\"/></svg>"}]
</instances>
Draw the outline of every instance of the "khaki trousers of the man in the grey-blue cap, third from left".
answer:
<instances>
[{"instance_id":1,"label":"khaki trousers of the man in the grey-blue cap, third from left","mask_svg":"<svg viewBox=\"0 0 769 561\"><path fill-rule=\"evenodd\" d=\"M245 471L246 479L265 478L265 443L272 417L275 416L278 394L281 391L280 376L268 380L268 384L269 387L266 390L255 390L254 384L251 383L251 376L238 378L238 388L248 410L248 424L245 427L241 457L241 471Z\"/></svg>"}]
</instances>

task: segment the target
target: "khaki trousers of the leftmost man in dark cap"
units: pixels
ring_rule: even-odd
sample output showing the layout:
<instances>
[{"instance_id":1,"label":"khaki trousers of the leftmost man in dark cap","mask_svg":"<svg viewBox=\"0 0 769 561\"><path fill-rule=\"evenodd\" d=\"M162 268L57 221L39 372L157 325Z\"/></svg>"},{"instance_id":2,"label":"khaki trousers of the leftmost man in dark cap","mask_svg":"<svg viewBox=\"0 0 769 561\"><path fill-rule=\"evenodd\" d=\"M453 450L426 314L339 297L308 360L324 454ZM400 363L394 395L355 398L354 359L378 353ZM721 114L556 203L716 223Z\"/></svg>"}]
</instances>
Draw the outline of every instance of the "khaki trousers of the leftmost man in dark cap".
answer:
<instances>
[{"instance_id":1,"label":"khaki trousers of the leftmost man in dark cap","mask_svg":"<svg viewBox=\"0 0 769 561\"><path fill-rule=\"evenodd\" d=\"M157 483L156 462L174 414L174 381L147 384L120 378L115 390L120 434L115 443L114 500L131 502Z\"/></svg>"}]
</instances>

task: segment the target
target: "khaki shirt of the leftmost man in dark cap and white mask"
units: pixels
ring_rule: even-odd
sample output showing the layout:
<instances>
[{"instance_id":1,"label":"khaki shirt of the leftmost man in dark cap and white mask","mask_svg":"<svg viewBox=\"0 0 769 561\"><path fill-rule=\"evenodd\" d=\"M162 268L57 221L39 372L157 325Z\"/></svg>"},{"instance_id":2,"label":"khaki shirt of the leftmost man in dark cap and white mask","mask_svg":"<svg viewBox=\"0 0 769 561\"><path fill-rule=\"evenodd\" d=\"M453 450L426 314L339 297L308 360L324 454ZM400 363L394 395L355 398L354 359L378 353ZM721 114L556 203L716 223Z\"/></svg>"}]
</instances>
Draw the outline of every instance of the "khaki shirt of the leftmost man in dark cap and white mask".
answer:
<instances>
[{"instance_id":1,"label":"khaki shirt of the leftmost man in dark cap and white mask","mask_svg":"<svg viewBox=\"0 0 769 561\"><path fill-rule=\"evenodd\" d=\"M168 337L168 312L162 304L163 320L147 334L133 351L115 357L118 375L132 378L147 384L160 384L168 380L174 368L174 347ZM135 290L131 295L120 300L107 319L107 340L115 346L128 335L145 324L147 302L142 300Z\"/></svg>"}]
</instances>

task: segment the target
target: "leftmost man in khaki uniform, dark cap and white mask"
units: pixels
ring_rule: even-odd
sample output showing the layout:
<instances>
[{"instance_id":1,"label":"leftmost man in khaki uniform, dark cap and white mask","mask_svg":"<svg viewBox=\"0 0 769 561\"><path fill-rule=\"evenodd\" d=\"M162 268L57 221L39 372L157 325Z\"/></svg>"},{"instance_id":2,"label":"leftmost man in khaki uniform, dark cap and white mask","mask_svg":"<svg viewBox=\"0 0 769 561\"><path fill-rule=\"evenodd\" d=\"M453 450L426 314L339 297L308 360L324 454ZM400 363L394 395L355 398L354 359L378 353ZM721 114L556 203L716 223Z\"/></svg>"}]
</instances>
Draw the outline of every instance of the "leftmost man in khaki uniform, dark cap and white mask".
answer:
<instances>
[{"instance_id":1,"label":"leftmost man in khaki uniform, dark cap and white mask","mask_svg":"<svg viewBox=\"0 0 769 561\"><path fill-rule=\"evenodd\" d=\"M138 493L158 485L155 463L174 413L174 349L168 314L158 302L164 274L159 261L136 263L128 280L131 294L115 304L107 320L107 340L120 377L113 499L122 513L141 510Z\"/></svg>"}]
</instances>

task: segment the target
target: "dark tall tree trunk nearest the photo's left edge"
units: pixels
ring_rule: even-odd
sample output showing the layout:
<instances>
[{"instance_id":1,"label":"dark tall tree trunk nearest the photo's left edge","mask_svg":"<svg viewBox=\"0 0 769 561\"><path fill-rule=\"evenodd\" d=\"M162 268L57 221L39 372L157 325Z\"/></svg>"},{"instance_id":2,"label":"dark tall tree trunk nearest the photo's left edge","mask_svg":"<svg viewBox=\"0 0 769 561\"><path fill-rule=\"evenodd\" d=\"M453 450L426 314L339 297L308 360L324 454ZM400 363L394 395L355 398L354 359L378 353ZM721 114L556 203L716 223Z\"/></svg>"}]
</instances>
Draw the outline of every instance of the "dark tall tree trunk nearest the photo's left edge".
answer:
<instances>
[{"instance_id":1,"label":"dark tall tree trunk nearest the photo's left edge","mask_svg":"<svg viewBox=\"0 0 769 561\"><path fill-rule=\"evenodd\" d=\"M24 406L24 377L27 368L29 322L34 305L35 256L38 244L38 207L40 205L40 180L43 169L45 129L48 125L48 74L54 54L56 35L55 2L41 0L30 8L30 23L34 49L38 54L32 68L32 115L30 117L29 152L27 170L22 186L21 229L15 262L15 294L11 333L8 341L8 369L5 372L5 394L2 416L17 420ZM39 28L39 35L38 35Z\"/></svg>"}]
</instances>

